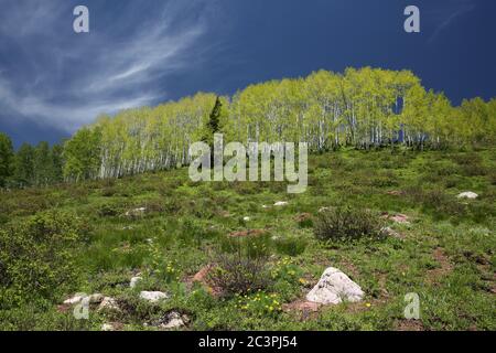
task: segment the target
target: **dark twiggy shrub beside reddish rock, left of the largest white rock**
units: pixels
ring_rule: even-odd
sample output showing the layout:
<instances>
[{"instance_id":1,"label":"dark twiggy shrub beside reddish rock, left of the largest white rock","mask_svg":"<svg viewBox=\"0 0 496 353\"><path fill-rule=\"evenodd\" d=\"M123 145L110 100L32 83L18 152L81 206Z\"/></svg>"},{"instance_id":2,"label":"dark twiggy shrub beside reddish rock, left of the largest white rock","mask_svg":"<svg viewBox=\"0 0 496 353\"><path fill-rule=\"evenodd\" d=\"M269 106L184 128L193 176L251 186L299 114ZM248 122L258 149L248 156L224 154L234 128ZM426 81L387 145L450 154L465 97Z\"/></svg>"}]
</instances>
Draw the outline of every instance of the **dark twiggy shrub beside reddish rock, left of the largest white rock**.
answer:
<instances>
[{"instance_id":1,"label":"dark twiggy shrub beside reddish rock, left of the largest white rock","mask_svg":"<svg viewBox=\"0 0 496 353\"><path fill-rule=\"evenodd\" d=\"M270 285L268 257L251 257L241 248L234 254L219 253L208 280L228 297L265 289Z\"/></svg>"}]
</instances>

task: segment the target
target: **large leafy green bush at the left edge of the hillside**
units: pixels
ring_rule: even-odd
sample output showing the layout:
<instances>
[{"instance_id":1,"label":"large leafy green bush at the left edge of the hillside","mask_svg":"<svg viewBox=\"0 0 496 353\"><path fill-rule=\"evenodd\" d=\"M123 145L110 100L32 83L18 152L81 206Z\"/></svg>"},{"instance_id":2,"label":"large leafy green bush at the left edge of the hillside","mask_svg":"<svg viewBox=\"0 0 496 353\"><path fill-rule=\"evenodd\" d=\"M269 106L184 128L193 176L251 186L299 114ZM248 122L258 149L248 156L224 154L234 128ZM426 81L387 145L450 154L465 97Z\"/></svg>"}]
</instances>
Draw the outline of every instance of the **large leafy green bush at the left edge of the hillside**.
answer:
<instances>
[{"instance_id":1,"label":"large leafy green bush at the left edge of the hillside","mask_svg":"<svg viewBox=\"0 0 496 353\"><path fill-rule=\"evenodd\" d=\"M76 277L75 246L87 232L80 218L63 212L0 229L0 308L56 299Z\"/></svg>"}]
</instances>

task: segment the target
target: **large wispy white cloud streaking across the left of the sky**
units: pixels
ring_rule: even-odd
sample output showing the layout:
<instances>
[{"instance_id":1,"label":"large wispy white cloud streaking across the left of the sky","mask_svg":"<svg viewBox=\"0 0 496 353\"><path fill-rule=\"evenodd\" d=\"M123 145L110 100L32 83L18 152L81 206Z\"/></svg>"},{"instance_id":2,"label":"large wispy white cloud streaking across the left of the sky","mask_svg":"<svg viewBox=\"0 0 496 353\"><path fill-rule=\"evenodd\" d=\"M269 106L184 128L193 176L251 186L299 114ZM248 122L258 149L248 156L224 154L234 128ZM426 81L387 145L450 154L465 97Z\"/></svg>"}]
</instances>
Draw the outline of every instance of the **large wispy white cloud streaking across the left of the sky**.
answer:
<instances>
[{"instance_id":1,"label":"large wispy white cloud streaking across the left of the sky","mask_svg":"<svg viewBox=\"0 0 496 353\"><path fill-rule=\"evenodd\" d=\"M208 24L202 0L144 8L129 1L107 25L95 25L99 8L89 6L90 33L74 34L66 1L2 1L12 10L0 12L0 41L22 65L2 60L0 47L0 109L68 132L100 114L165 99L164 77L197 62L198 41ZM130 25L143 11L152 12ZM14 30L26 14L26 25Z\"/></svg>"}]
</instances>

